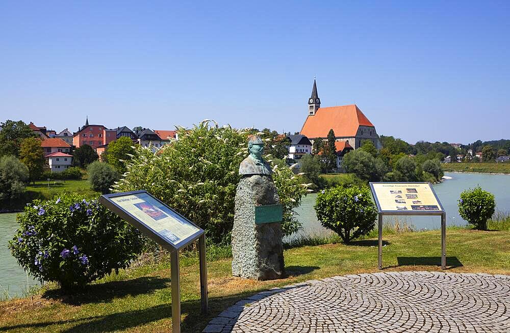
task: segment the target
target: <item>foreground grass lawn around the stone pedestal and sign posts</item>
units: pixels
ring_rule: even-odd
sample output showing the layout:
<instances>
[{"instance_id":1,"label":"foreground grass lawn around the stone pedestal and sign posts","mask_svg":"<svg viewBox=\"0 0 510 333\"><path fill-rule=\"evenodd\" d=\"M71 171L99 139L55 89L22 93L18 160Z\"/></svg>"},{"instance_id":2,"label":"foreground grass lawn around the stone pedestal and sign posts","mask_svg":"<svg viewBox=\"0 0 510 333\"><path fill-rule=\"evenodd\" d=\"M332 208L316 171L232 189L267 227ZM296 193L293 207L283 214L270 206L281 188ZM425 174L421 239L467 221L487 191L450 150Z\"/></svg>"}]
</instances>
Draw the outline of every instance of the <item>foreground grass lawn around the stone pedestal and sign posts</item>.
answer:
<instances>
[{"instance_id":1,"label":"foreground grass lawn around the stone pedestal and sign posts","mask_svg":"<svg viewBox=\"0 0 510 333\"><path fill-rule=\"evenodd\" d=\"M388 234L384 240L384 271L440 270L439 230ZM287 249L288 277L275 281L232 277L229 258L209 261L207 316L200 314L198 259L182 258L183 332L200 332L222 310L258 291L327 276L377 271L377 241ZM448 229L447 265L449 272L510 274L510 231ZM163 261L112 274L78 295L63 296L59 289L48 286L32 300L0 302L0 332L169 332L170 304L170 265Z\"/></svg>"}]
</instances>

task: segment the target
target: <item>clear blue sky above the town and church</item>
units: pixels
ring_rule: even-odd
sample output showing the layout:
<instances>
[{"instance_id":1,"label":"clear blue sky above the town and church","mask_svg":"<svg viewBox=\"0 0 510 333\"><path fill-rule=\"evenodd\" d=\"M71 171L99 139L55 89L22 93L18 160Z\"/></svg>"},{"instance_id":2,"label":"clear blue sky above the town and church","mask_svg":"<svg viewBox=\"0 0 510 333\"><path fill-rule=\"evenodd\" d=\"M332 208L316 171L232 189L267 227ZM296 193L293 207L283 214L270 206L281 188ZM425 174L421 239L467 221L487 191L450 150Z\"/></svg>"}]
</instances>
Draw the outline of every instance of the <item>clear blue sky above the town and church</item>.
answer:
<instances>
[{"instance_id":1,"label":"clear blue sky above the town and church","mask_svg":"<svg viewBox=\"0 0 510 333\"><path fill-rule=\"evenodd\" d=\"M0 3L0 121L299 131L357 104L409 142L510 138L510 2Z\"/></svg>"}]
</instances>

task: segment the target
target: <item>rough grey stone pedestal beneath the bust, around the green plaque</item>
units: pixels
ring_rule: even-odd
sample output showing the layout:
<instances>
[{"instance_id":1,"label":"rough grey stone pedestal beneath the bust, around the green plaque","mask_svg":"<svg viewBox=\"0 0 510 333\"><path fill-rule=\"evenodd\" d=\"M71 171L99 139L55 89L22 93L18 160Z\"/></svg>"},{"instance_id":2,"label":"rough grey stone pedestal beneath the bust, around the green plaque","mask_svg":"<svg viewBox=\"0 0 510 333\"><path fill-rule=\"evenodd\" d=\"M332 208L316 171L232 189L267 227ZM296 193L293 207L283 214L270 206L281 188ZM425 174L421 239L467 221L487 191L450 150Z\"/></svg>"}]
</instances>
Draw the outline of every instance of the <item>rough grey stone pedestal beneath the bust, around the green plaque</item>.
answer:
<instances>
[{"instance_id":1,"label":"rough grey stone pedestal beneath the bust, around the green plaque","mask_svg":"<svg viewBox=\"0 0 510 333\"><path fill-rule=\"evenodd\" d=\"M243 176L236 192L232 229L232 275L255 280L285 275L280 223L255 223L255 206L278 203L269 175Z\"/></svg>"}]
</instances>

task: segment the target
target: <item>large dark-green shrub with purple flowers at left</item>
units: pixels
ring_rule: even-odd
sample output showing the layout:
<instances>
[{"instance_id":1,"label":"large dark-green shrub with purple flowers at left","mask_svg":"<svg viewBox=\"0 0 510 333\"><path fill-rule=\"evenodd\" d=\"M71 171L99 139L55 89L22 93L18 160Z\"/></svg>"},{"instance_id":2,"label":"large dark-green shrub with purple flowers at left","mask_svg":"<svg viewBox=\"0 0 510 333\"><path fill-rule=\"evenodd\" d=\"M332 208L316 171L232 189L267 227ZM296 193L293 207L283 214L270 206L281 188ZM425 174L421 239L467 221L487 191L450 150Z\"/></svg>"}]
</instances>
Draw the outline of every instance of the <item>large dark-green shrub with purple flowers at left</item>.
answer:
<instances>
[{"instance_id":1,"label":"large dark-green shrub with purple flowers at left","mask_svg":"<svg viewBox=\"0 0 510 333\"><path fill-rule=\"evenodd\" d=\"M64 289L126 268L141 251L138 230L77 194L35 200L17 220L19 229L9 242L12 255L39 281Z\"/></svg>"}]
</instances>

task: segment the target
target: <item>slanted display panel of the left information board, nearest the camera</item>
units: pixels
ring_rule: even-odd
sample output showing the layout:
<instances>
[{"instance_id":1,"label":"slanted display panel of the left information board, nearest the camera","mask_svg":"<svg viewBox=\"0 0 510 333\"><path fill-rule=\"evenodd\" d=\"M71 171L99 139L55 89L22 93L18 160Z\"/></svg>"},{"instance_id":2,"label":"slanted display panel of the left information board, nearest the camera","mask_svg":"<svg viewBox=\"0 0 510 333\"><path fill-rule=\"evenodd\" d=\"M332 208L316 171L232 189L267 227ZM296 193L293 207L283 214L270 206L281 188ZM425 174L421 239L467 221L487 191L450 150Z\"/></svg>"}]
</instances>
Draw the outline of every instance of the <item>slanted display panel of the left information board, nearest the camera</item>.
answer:
<instances>
[{"instance_id":1,"label":"slanted display panel of the left information board, nearest the camera","mask_svg":"<svg viewBox=\"0 0 510 333\"><path fill-rule=\"evenodd\" d=\"M184 240L203 232L146 191L115 193L102 197L130 217L135 217L138 223L175 247L180 247Z\"/></svg>"}]
</instances>

